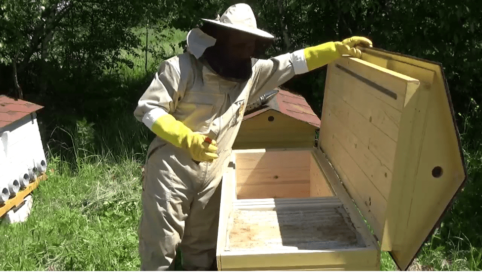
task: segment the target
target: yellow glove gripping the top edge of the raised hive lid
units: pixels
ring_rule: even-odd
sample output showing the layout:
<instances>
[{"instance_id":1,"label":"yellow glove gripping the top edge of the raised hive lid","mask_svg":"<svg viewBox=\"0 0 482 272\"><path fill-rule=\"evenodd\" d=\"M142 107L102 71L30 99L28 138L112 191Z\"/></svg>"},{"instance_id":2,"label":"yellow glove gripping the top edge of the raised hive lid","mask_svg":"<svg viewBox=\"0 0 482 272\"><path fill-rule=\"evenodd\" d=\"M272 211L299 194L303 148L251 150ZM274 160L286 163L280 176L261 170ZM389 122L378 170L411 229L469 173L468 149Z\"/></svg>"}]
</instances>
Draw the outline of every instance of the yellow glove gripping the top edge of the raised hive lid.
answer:
<instances>
[{"instance_id":1,"label":"yellow glove gripping the top edge of the raised hive lid","mask_svg":"<svg viewBox=\"0 0 482 272\"><path fill-rule=\"evenodd\" d=\"M372 41L367 38L354 36L341 42L328 42L305 48L304 55L308 71L320 68L342 55L359 58L361 51L355 48L357 45L373 46Z\"/></svg>"}]
</instances>

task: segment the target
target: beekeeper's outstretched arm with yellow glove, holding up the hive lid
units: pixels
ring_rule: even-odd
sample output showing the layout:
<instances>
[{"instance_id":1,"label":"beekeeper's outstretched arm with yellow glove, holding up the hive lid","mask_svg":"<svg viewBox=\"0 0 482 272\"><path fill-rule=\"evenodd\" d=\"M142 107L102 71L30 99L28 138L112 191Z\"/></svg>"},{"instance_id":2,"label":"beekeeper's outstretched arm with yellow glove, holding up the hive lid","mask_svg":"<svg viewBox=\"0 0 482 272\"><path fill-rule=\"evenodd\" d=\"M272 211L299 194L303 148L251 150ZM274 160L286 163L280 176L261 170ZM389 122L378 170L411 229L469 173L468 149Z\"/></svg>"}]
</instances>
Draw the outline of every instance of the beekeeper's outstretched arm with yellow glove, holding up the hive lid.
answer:
<instances>
[{"instance_id":1,"label":"beekeeper's outstretched arm with yellow glove, holding up the hive lid","mask_svg":"<svg viewBox=\"0 0 482 272\"><path fill-rule=\"evenodd\" d=\"M255 64L254 86L248 103L284 84L295 75L304 74L320 68L342 55L360 57L361 51L355 46L372 46L364 37L351 37L341 42L328 42L306 47L269 59L260 59Z\"/></svg>"}]
</instances>

